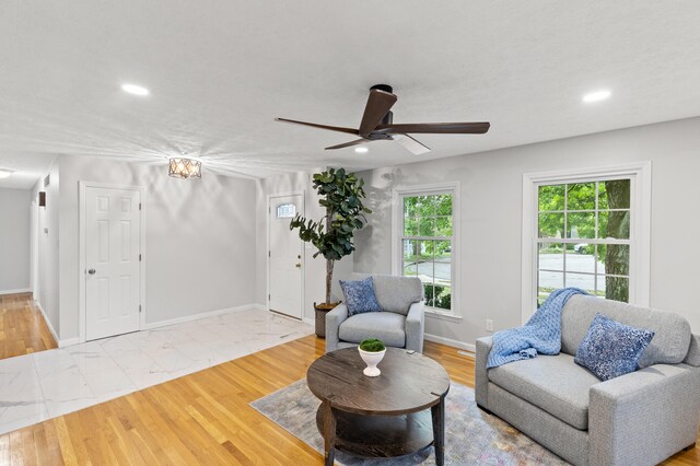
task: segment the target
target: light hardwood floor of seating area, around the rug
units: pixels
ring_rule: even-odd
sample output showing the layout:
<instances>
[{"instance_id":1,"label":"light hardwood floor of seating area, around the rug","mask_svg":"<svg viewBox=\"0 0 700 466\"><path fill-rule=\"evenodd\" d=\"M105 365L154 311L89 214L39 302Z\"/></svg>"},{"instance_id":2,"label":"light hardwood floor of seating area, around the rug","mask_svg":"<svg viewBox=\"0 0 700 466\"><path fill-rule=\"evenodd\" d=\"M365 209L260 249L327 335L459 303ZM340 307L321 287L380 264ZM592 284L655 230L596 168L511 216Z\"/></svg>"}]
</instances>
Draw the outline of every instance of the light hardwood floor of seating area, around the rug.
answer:
<instances>
[{"instance_id":1,"label":"light hardwood floor of seating area, around the rug","mask_svg":"<svg viewBox=\"0 0 700 466\"><path fill-rule=\"evenodd\" d=\"M304 377L323 350L323 340L304 337L21 429L0 436L0 464L323 464L320 454L248 406ZM472 359L432 342L425 353L454 382L474 386ZM700 464L700 451L665 464Z\"/></svg>"}]
</instances>

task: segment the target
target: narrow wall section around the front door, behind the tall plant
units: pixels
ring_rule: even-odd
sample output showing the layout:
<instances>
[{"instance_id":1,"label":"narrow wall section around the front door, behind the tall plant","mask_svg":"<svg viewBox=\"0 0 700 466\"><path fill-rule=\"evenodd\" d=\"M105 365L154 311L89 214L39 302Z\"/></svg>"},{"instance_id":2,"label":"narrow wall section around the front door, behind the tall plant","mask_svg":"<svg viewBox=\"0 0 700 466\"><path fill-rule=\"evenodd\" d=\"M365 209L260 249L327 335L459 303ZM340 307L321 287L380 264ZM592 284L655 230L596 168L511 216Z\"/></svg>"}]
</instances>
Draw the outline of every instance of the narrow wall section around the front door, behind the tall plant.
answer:
<instances>
[{"instance_id":1,"label":"narrow wall section around the front door, behind the tall plant","mask_svg":"<svg viewBox=\"0 0 700 466\"><path fill-rule=\"evenodd\" d=\"M318 172L323 168L318 168ZM280 175L265 178L257 184L257 275L256 275L256 296L259 303L267 300L267 199L270 195L290 194L304 191L304 206L306 218L320 219L325 213L325 208L318 206L318 196L312 188L312 174L314 172L299 172L289 175ZM295 233L294 233L295 234ZM304 244L304 308L303 317L314 318L314 302L324 302L326 299L326 259L318 256L314 259L316 248ZM342 295L338 286L338 280L348 278L352 273L352 255L346 256L342 260L336 261L334 266L332 296L335 300Z\"/></svg>"}]
</instances>

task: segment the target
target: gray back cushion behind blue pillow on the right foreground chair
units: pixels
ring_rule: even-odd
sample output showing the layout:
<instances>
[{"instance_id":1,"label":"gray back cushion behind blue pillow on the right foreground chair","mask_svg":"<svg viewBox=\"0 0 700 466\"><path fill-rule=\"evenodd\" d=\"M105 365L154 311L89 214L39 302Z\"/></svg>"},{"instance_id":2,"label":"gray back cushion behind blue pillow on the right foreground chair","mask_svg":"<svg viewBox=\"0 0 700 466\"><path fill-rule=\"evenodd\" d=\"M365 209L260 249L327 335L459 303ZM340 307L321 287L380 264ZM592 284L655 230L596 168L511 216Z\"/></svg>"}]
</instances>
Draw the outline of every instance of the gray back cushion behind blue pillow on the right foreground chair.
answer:
<instances>
[{"instance_id":1,"label":"gray back cushion behind blue pillow on the right foreground chair","mask_svg":"<svg viewBox=\"0 0 700 466\"><path fill-rule=\"evenodd\" d=\"M690 324L681 316L618 301L575 295L561 312L561 351L575 354L597 313L655 336L639 361L640 368L652 364L677 364L688 354Z\"/></svg>"}]
</instances>

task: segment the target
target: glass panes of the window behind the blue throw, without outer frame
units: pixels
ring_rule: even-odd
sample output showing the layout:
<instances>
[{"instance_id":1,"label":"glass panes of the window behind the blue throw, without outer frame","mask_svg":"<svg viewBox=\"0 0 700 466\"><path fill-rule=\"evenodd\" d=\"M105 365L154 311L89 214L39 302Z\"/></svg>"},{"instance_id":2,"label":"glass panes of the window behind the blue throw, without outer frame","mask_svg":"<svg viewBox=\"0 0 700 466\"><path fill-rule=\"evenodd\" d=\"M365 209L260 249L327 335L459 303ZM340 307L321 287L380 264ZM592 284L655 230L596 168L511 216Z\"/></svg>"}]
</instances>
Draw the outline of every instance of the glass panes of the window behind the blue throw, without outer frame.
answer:
<instances>
[{"instance_id":1,"label":"glass panes of the window behind the blue throw, without outer frame","mask_svg":"<svg viewBox=\"0 0 700 466\"><path fill-rule=\"evenodd\" d=\"M629 301L630 179L538 186L537 302L576 287Z\"/></svg>"}]
</instances>

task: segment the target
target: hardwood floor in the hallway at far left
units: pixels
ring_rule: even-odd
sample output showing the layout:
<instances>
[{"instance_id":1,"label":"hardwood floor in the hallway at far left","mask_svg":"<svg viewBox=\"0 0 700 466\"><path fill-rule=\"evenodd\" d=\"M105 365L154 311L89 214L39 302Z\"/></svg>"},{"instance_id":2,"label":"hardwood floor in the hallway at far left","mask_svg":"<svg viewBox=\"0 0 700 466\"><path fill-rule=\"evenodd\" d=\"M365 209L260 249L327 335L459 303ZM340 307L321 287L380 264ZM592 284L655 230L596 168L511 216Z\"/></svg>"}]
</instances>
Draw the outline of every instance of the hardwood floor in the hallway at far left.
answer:
<instances>
[{"instance_id":1,"label":"hardwood floor in the hallway at far left","mask_svg":"<svg viewBox=\"0 0 700 466\"><path fill-rule=\"evenodd\" d=\"M0 359L57 348L32 293L0 295Z\"/></svg>"}]
</instances>

